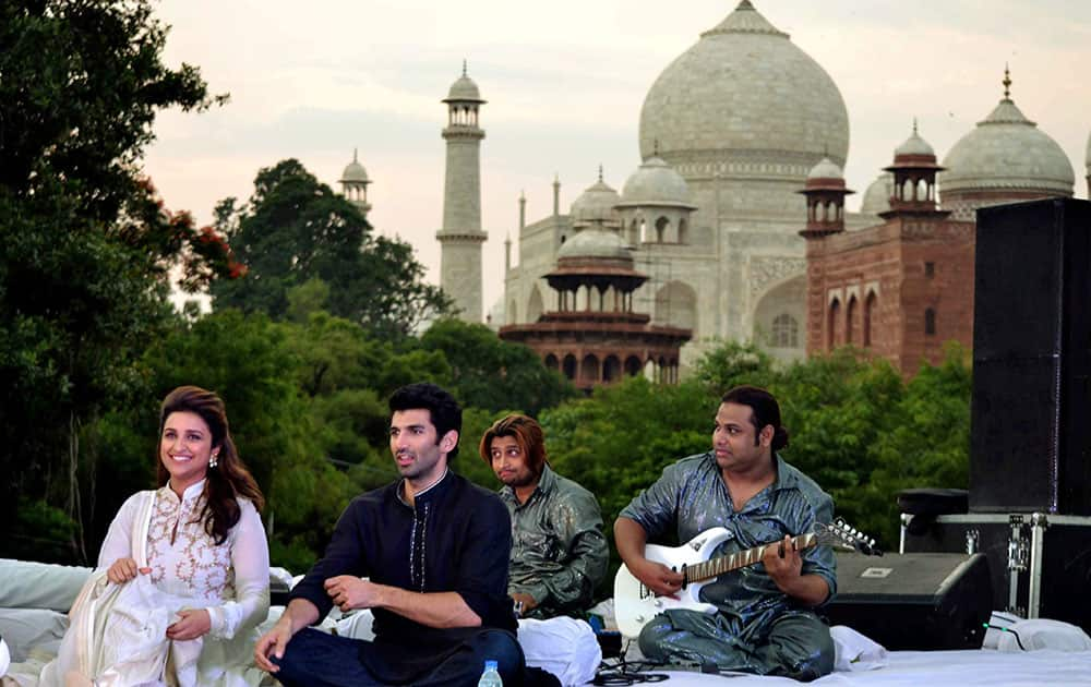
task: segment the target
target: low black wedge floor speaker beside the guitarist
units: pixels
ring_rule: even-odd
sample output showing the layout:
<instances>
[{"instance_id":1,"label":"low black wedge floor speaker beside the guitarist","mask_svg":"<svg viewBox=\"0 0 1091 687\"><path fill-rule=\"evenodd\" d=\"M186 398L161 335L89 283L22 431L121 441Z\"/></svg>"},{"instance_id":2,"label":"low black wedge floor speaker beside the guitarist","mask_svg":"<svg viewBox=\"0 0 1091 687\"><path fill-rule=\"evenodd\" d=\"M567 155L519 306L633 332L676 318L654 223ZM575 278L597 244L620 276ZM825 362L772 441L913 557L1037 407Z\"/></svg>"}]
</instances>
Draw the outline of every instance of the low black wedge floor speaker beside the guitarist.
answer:
<instances>
[{"instance_id":1,"label":"low black wedge floor speaker beside the guitarist","mask_svg":"<svg viewBox=\"0 0 1091 687\"><path fill-rule=\"evenodd\" d=\"M992 614L981 554L838 554L830 625L848 625L889 650L980 649Z\"/></svg>"}]
</instances>

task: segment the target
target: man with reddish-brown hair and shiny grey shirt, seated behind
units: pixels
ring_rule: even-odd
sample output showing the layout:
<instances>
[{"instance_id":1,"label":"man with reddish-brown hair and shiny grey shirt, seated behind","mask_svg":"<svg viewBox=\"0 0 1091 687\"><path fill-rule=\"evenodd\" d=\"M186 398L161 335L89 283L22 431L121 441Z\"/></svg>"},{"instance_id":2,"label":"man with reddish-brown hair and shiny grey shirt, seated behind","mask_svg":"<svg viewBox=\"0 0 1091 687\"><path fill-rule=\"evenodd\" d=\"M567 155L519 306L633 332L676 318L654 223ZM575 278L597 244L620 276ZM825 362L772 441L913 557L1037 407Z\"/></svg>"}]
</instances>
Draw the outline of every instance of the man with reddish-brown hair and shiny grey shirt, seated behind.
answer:
<instances>
[{"instance_id":1,"label":"man with reddish-brown hair and shiny grey shirt, seated behind","mask_svg":"<svg viewBox=\"0 0 1091 687\"><path fill-rule=\"evenodd\" d=\"M503 418L481 437L481 457L504 486L512 516L507 591L524 617L579 615L607 574L610 551L595 495L553 472L532 418Z\"/></svg>"}]
</instances>

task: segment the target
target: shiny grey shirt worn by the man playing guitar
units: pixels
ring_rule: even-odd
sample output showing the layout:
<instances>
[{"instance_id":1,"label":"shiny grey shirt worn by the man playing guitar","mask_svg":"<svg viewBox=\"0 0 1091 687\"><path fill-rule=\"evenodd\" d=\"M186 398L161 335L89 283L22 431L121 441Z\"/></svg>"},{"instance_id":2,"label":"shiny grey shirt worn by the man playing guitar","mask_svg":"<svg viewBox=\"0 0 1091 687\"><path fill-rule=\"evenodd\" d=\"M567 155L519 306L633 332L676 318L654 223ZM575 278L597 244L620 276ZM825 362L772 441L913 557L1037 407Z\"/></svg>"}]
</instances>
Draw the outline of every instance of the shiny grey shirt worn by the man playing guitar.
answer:
<instances>
[{"instance_id":1,"label":"shiny grey shirt worn by the man playing guitar","mask_svg":"<svg viewBox=\"0 0 1091 687\"><path fill-rule=\"evenodd\" d=\"M731 494L711 453L683 458L668 466L662 477L640 492L621 516L635 520L649 542L671 534L685 543L712 527L724 527L732 539L716 555L743 551L810 532L815 522L830 522L834 499L808 477L784 462L777 463L777 479L735 513ZM668 542L669 543L669 542ZM837 590L837 559L832 550L817 546L803 552L803 574L819 575ZM777 587L760 563L721 575L706 584L700 596L743 626L765 623L801 606Z\"/></svg>"}]
</instances>

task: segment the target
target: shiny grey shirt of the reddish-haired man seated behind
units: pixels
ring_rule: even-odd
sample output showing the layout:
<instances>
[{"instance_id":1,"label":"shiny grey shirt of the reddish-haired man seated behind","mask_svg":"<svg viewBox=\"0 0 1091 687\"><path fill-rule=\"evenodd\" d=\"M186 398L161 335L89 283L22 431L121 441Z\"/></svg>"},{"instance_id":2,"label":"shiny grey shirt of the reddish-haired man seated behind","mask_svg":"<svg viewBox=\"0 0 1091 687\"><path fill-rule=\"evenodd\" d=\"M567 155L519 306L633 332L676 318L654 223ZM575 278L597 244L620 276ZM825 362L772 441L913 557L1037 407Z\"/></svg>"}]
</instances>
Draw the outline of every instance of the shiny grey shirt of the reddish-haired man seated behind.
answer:
<instances>
[{"instance_id":1,"label":"shiny grey shirt of the reddish-haired man seated behind","mask_svg":"<svg viewBox=\"0 0 1091 687\"><path fill-rule=\"evenodd\" d=\"M500 490L500 497L512 515L508 593L533 598L531 617L590 606L610 559L595 495L547 465L526 503L519 504L511 486Z\"/></svg>"}]
</instances>

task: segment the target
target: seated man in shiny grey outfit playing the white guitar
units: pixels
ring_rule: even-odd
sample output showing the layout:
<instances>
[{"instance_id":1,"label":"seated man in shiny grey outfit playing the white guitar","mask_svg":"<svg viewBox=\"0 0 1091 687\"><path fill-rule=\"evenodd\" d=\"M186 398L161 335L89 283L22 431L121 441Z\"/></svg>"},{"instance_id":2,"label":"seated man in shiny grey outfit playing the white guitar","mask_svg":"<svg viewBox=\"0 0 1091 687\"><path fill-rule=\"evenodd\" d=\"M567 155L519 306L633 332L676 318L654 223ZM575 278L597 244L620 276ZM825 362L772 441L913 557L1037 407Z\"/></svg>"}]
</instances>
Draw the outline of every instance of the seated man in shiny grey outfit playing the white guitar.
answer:
<instances>
[{"instance_id":1,"label":"seated man in shiny grey outfit playing the white guitar","mask_svg":"<svg viewBox=\"0 0 1091 687\"><path fill-rule=\"evenodd\" d=\"M649 539L673 533L688 542L720 527L729 537L717 555L780 541L759 564L700 589L700 601L716 613L672 608L648 619L639 635L646 656L800 680L832 671L834 641L813 608L836 591L836 558L827 546L799 551L792 538L830 522L834 501L777 455L787 446L772 395L735 387L716 413L712 450L668 466L622 510L614 522L618 552L634 577L664 596L678 595L686 578L645 557Z\"/></svg>"}]
</instances>

